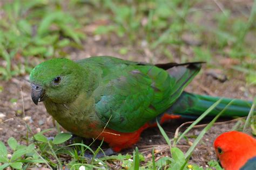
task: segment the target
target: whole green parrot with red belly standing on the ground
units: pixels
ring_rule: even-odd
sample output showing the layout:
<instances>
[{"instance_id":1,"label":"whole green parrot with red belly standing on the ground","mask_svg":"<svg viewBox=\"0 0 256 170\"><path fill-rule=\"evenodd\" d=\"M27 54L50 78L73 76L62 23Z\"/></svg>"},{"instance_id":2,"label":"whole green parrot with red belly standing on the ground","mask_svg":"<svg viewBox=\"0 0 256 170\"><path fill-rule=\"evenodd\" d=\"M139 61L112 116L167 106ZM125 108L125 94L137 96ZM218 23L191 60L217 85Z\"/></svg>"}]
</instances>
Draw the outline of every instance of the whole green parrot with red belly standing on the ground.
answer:
<instances>
[{"instance_id":1,"label":"whole green parrot with red belly standing on the ground","mask_svg":"<svg viewBox=\"0 0 256 170\"><path fill-rule=\"evenodd\" d=\"M31 97L43 102L64 129L103 139L114 151L137 143L140 133L177 115L199 116L219 97L187 93L201 62L152 65L111 56L83 60L52 59L30 74ZM231 101L210 112L217 115ZM252 102L235 100L223 116L247 116ZM175 116L176 115L176 116Z\"/></svg>"}]
</instances>

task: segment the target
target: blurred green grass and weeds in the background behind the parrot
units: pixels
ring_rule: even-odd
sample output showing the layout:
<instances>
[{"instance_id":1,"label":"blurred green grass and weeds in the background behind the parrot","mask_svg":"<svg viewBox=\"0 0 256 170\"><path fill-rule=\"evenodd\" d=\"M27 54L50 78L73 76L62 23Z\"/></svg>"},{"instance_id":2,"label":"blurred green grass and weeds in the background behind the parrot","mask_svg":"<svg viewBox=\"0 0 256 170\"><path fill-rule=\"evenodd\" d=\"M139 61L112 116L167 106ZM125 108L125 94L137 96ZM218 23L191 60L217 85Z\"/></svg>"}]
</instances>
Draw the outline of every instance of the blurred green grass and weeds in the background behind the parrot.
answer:
<instances>
[{"instance_id":1,"label":"blurred green grass and weeds in the background behind the parrot","mask_svg":"<svg viewBox=\"0 0 256 170\"><path fill-rule=\"evenodd\" d=\"M224 3L224 2L220 2ZM256 82L256 3L247 7L201 0L65 0L4 3L0 20L0 66L4 79L29 72L28 56L69 55L65 47L82 45L86 26L111 41L117 36L121 55L128 47L148 48L170 60L204 60L212 66L216 55L238 59L247 81ZM245 6L245 5L244 5ZM102 22L100 24L100 22ZM254 38L253 38L254 37ZM25 61L14 63L16 56ZM235 69L235 68L234 68ZM244 70L246 70L244 72Z\"/></svg>"}]
</instances>

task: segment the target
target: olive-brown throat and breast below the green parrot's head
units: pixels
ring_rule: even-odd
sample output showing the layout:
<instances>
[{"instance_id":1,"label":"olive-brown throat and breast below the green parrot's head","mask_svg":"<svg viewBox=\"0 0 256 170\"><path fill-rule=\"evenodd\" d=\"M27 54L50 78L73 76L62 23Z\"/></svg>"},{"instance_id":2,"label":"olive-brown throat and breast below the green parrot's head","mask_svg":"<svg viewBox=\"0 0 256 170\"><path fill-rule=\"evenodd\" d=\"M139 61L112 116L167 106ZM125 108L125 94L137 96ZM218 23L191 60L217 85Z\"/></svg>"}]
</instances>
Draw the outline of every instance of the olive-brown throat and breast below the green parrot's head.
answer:
<instances>
[{"instance_id":1,"label":"olive-brown throat and breast below the green parrot's head","mask_svg":"<svg viewBox=\"0 0 256 170\"><path fill-rule=\"evenodd\" d=\"M47 112L64 129L83 137L91 137L93 134L91 131L99 129L100 132L104 127L95 114L94 103L94 97L88 97L86 92L80 93L72 103L44 101ZM94 128L91 128L91 125L94 125Z\"/></svg>"}]
</instances>

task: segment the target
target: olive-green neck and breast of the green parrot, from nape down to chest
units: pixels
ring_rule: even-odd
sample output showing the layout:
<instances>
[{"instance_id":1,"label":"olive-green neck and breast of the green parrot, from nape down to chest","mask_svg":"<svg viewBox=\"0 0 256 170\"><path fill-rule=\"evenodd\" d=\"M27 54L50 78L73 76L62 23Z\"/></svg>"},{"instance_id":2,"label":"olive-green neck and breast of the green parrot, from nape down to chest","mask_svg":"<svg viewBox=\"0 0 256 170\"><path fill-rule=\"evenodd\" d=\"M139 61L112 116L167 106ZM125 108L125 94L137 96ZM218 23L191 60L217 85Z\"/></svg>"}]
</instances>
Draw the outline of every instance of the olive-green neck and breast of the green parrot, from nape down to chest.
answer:
<instances>
[{"instance_id":1,"label":"olive-green neck and breast of the green parrot, from nape down to chest","mask_svg":"<svg viewBox=\"0 0 256 170\"><path fill-rule=\"evenodd\" d=\"M87 131L88 135L92 128L90 124L98 125L95 129L102 129L101 122L98 116L95 114L95 97L92 95L93 91L98 86L100 74L97 73L98 69L92 68L92 66L83 66L83 75L77 75L77 79L83 79L79 81L82 86L79 91L76 91L76 97L69 102L56 103L50 99L44 101L44 105L49 114L56 119L56 121L63 126L64 129L77 134L78 136L84 136L85 134L79 134L80 132ZM93 130L95 130L93 129Z\"/></svg>"}]
</instances>

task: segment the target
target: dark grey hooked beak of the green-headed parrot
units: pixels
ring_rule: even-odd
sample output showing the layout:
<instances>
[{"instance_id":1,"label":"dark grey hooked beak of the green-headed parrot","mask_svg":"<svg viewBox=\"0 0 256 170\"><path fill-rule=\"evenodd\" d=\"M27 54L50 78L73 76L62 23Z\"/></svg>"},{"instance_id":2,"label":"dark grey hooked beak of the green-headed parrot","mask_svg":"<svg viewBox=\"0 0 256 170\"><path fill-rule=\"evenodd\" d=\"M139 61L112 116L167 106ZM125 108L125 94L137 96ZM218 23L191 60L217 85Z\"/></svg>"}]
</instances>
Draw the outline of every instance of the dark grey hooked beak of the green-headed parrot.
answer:
<instances>
[{"instance_id":1,"label":"dark grey hooked beak of the green-headed parrot","mask_svg":"<svg viewBox=\"0 0 256 170\"><path fill-rule=\"evenodd\" d=\"M36 105L44 100L44 96L45 90L41 86L31 83L31 98Z\"/></svg>"}]
</instances>

